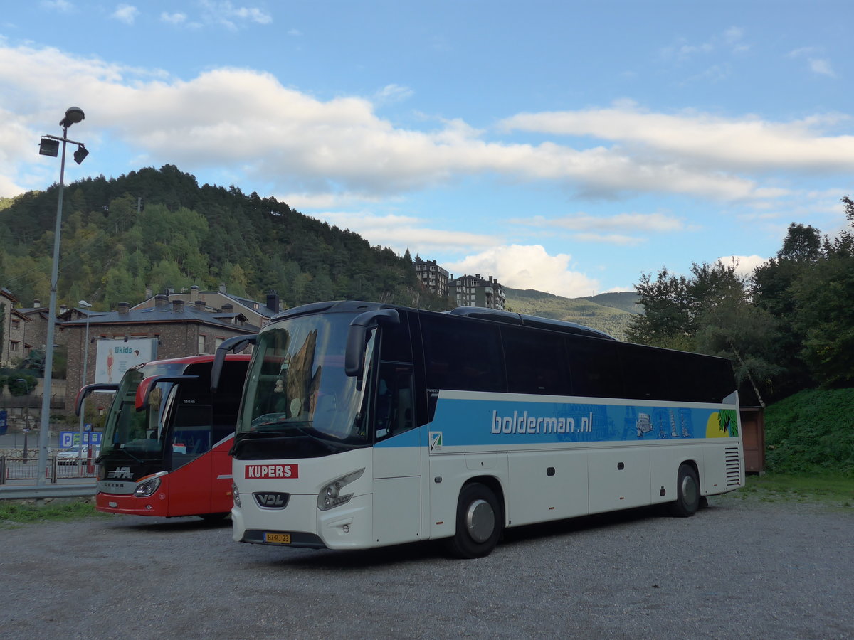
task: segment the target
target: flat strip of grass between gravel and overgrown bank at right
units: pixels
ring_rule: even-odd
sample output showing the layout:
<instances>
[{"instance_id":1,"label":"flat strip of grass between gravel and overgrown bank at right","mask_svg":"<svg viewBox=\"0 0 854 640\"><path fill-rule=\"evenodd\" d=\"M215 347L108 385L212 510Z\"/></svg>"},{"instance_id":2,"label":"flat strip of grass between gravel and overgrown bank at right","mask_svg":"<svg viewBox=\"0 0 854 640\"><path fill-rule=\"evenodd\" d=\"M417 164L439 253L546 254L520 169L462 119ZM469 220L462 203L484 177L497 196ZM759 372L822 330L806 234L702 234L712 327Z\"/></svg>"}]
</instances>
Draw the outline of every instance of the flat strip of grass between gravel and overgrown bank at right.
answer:
<instances>
[{"instance_id":1,"label":"flat strip of grass between gravel and overgrown bank at right","mask_svg":"<svg viewBox=\"0 0 854 640\"><path fill-rule=\"evenodd\" d=\"M748 475L746 485L728 494L760 502L825 503L854 506L854 477L847 474Z\"/></svg>"}]
</instances>

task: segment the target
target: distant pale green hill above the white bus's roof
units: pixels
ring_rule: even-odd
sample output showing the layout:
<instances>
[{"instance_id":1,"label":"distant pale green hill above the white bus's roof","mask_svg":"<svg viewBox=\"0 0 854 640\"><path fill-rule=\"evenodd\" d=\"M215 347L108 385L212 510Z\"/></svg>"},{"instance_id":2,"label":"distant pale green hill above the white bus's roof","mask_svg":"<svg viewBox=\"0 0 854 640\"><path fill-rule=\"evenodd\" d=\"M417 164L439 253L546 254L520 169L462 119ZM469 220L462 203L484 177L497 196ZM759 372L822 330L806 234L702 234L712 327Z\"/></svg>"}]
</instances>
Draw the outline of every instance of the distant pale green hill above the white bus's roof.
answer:
<instances>
[{"instance_id":1,"label":"distant pale green hill above the white bus's roof","mask_svg":"<svg viewBox=\"0 0 854 640\"><path fill-rule=\"evenodd\" d=\"M637 294L630 291L590 298L564 298L535 289L505 288L505 294L508 311L584 324L618 340L625 340L632 315L642 311Z\"/></svg>"}]
</instances>

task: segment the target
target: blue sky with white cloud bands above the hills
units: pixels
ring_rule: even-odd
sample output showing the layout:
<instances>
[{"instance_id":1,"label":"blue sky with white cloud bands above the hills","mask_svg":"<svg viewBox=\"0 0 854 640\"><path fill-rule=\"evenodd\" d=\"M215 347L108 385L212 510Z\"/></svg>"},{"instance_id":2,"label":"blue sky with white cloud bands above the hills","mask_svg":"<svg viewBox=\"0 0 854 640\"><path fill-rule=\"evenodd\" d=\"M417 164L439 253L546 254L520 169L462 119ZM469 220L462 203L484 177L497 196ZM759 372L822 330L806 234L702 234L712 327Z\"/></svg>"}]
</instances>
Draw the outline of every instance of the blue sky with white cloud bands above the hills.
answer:
<instances>
[{"instance_id":1,"label":"blue sky with white cloud bands above the hills","mask_svg":"<svg viewBox=\"0 0 854 640\"><path fill-rule=\"evenodd\" d=\"M166 164L566 297L749 273L854 197L854 3L5 2L0 196ZM70 152L73 150L69 149Z\"/></svg>"}]
</instances>

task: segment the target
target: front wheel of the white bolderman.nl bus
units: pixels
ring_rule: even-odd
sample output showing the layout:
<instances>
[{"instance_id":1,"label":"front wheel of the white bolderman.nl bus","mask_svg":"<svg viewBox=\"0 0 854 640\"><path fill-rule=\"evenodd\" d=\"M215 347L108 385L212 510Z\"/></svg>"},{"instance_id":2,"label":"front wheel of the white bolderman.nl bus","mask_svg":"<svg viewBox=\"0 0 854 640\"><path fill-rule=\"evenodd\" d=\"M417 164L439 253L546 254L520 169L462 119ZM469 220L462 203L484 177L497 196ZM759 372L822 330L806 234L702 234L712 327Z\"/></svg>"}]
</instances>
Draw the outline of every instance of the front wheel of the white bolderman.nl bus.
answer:
<instances>
[{"instance_id":1,"label":"front wheel of the white bolderman.nl bus","mask_svg":"<svg viewBox=\"0 0 854 640\"><path fill-rule=\"evenodd\" d=\"M448 549L459 558L488 556L504 528L498 498L488 486L472 482L459 492L457 531L448 540Z\"/></svg>"}]
</instances>

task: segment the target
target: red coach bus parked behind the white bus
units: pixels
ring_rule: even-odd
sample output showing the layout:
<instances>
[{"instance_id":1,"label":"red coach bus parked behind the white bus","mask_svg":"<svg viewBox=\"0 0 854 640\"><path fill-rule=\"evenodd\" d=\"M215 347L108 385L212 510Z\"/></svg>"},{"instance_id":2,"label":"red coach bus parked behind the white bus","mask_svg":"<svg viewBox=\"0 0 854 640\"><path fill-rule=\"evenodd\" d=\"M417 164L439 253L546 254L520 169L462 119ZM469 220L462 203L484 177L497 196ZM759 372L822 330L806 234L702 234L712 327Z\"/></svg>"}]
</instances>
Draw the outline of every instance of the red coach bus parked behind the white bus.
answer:
<instances>
[{"instance_id":1,"label":"red coach bus parked behind the white bus","mask_svg":"<svg viewBox=\"0 0 854 640\"><path fill-rule=\"evenodd\" d=\"M113 391L97 457L97 509L114 514L199 515L231 510L231 457L249 355L228 355L211 390L213 355L154 360L128 369Z\"/></svg>"}]
</instances>

